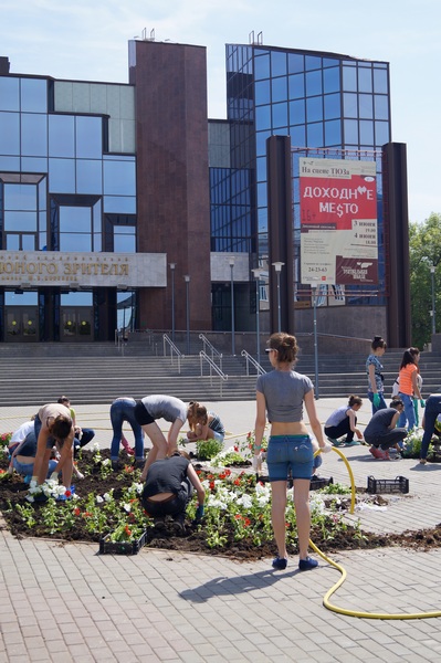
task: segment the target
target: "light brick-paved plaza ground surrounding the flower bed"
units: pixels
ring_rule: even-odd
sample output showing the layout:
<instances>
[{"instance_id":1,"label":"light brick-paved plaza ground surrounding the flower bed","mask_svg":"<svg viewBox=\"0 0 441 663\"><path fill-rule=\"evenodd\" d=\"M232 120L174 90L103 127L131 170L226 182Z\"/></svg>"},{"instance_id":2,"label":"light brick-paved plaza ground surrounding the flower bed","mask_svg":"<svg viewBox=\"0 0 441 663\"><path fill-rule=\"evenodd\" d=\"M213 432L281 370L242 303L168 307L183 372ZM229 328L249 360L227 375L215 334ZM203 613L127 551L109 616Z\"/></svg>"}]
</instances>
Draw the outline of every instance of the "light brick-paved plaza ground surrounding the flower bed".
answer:
<instances>
[{"instance_id":1,"label":"light brick-paved plaza ground surrounding the flower bed","mask_svg":"<svg viewBox=\"0 0 441 663\"><path fill-rule=\"evenodd\" d=\"M316 401L321 421L343 403ZM254 428L254 402L207 404L224 421L229 444ZM112 439L108 410L108 404L76 407L78 424L94 428L102 448ZM0 409L0 433L32 413L27 407ZM361 429L369 420L366 401L358 420ZM401 533L441 522L441 464L375 461L367 446L342 451L358 486L366 486L369 475L409 480L409 495L390 496L386 509L366 504L350 516L361 528ZM335 452L324 456L321 474L349 483ZM340 608L441 611L441 550L381 548L332 558L347 571L332 597ZM440 619L359 619L325 609L323 598L340 575L324 560L317 570L300 573L295 557L285 571L273 572L270 559L238 562L179 550L101 556L98 545L18 540L2 527L0 569L0 663L441 660Z\"/></svg>"}]
</instances>

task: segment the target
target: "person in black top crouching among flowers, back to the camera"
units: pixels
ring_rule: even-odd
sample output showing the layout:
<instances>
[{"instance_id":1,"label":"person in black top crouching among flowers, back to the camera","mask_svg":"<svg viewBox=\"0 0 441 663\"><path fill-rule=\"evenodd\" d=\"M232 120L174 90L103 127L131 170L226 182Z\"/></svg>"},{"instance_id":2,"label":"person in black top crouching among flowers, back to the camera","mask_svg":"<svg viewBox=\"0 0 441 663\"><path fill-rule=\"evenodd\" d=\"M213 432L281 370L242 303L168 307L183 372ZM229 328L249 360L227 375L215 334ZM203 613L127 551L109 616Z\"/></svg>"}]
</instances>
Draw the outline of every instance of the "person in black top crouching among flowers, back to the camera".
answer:
<instances>
[{"instance_id":1,"label":"person in black top crouching among flowers, back to the camera","mask_svg":"<svg viewBox=\"0 0 441 663\"><path fill-rule=\"evenodd\" d=\"M154 518L155 527L164 528L166 516L171 516L175 530L182 533L186 509L193 488L199 501L196 512L198 522L203 516L206 492L190 461L176 451L171 456L151 463L147 471L141 502L148 515Z\"/></svg>"}]
</instances>

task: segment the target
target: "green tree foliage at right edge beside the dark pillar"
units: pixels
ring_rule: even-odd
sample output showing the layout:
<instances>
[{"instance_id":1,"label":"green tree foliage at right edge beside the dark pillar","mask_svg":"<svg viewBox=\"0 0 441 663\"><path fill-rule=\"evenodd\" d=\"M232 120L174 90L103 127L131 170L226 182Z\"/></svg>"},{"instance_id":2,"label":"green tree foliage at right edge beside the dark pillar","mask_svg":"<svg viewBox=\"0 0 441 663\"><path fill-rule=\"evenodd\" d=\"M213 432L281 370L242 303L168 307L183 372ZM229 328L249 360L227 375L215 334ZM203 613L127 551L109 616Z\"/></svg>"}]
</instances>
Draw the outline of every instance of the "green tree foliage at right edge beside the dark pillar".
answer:
<instances>
[{"instance_id":1,"label":"green tree foliage at right edge beside the dark pillar","mask_svg":"<svg viewBox=\"0 0 441 663\"><path fill-rule=\"evenodd\" d=\"M432 274L434 271L434 309L437 332L441 328L441 298L438 284L441 278L441 214L432 213L422 223L409 224L410 297L412 344L423 348L432 334Z\"/></svg>"}]
</instances>

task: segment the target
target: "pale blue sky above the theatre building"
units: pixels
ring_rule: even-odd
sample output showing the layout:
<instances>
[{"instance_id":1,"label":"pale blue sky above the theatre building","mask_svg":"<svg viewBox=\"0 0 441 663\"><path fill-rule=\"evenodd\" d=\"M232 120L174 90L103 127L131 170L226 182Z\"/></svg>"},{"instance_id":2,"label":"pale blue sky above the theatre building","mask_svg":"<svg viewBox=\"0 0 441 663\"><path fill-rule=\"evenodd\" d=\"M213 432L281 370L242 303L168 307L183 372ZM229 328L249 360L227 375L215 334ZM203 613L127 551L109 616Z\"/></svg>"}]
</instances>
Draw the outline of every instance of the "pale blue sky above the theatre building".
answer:
<instances>
[{"instance_id":1,"label":"pale blue sky above the theatre building","mask_svg":"<svg viewBox=\"0 0 441 663\"><path fill-rule=\"evenodd\" d=\"M128 41L207 48L210 118L225 118L225 44L390 63L392 140L407 145L409 219L441 213L440 0L0 0L11 74L128 82Z\"/></svg>"}]
</instances>

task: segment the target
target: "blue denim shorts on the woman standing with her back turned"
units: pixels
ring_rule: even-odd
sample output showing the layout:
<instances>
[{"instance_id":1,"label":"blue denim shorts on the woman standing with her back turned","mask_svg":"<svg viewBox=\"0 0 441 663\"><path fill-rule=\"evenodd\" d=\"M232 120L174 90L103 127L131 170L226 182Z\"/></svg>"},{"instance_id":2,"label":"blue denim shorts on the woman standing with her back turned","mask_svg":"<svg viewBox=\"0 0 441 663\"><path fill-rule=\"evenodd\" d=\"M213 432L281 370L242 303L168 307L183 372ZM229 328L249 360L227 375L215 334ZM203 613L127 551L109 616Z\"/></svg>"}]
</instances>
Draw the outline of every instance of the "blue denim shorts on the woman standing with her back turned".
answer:
<instances>
[{"instance_id":1,"label":"blue denim shorts on the woman standing with her back turned","mask_svg":"<svg viewBox=\"0 0 441 663\"><path fill-rule=\"evenodd\" d=\"M311 478L314 450L309 435L272 435L267 445L266 464L270 481Z\"/></svg>"}]
</instances>

